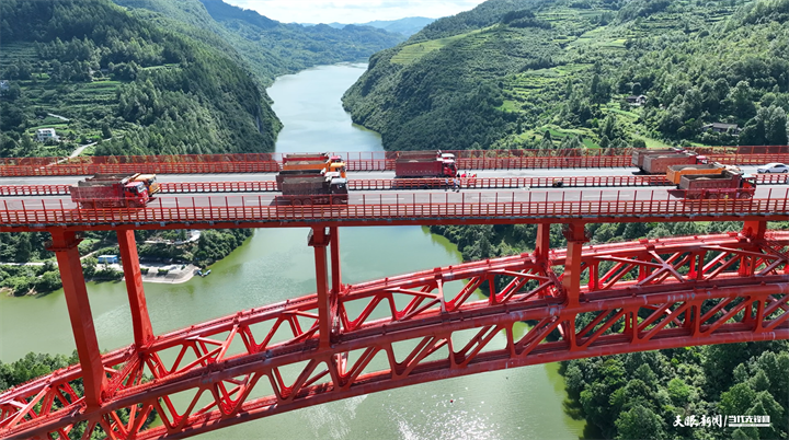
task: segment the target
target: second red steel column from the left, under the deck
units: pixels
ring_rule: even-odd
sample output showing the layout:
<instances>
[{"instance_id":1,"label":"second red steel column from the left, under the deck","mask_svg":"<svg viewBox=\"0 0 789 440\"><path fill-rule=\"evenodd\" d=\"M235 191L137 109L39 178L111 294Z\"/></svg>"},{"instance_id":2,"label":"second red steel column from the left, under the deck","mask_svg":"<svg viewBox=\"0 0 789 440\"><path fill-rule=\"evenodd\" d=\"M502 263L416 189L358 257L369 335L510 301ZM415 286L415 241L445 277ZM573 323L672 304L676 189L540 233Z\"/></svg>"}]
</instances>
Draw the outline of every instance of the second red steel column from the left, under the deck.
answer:
<instances>
[{"instance_id":1,"label":"second red steel column from the left, under the deck","mask_svg":"<svg viewBox=\"0 0 789 440\"><path fill-rule=\"evenodd\" d=\"M134 231L117 231L121 259L123 260L124 277L126 278L126 293L132 309L132 326L134 327L135 345L137 348L153 339L153 327L148 315L145 290L142 289L142 273L139 268L137 243Z\"/></svg>"}]
</instances>

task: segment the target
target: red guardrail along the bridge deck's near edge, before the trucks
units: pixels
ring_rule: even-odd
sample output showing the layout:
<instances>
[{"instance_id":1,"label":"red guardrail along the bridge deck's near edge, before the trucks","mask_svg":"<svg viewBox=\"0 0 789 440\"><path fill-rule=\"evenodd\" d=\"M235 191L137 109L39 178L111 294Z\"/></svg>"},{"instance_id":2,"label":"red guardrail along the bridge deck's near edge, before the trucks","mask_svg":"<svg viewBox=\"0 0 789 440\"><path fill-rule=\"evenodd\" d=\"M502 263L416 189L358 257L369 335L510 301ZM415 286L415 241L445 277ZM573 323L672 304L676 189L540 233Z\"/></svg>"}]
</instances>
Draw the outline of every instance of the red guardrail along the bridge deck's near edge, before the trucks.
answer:
<instances>
[{"instance_id":1,"label":"red guardrail along the bridge deck's near edge, before the trucks","mask_svg":"<svg viewBox=\"0 0 789 440\"><path fill-rule=\"evenodd\" d=\"M274 196L159 197L147 208L76 209L67 199L4 199L0 205L3 227L98 224L199 223L199 222L302 222L339 221L352 224L419 220L469 221L473 219L529 219L584 217L619 219L693 219L704 215L727 217L787 216L789 189L770 189L767 197L752 199L686 200L667 190L514 192L514 193L411 193L361 194L341 206L282 206Z\"/></svg>"}]
</instances>

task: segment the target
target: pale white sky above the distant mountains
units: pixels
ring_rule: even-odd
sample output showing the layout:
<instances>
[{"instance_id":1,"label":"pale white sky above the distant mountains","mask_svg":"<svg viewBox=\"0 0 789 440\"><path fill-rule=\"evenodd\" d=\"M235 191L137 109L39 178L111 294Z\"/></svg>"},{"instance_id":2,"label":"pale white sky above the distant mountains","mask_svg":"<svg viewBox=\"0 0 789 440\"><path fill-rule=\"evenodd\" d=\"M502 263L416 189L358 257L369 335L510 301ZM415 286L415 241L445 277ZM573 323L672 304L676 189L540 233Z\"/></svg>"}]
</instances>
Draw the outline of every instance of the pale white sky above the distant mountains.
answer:
<instances>
[{"instance_id":1,"label":"pale white sky above the distant mountains","mask_svg":"<svg viewBox=\"0 0 789 440\"><path fill-rule=\"evenodd\" d=\"M366 23L455 15L484 0L225 0L284 23Z\"/></svg>"}]
</instances>

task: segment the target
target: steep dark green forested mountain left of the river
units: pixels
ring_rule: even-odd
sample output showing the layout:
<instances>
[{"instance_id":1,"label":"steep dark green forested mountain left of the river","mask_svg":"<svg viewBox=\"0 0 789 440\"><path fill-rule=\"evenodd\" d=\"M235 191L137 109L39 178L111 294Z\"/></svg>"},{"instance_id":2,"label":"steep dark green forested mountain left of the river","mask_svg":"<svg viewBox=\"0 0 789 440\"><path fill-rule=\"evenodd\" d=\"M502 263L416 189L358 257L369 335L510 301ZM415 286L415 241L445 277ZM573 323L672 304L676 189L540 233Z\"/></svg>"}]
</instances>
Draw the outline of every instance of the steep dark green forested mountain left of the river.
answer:
<instances>
[{"instance_id":1,"label":"steep dark green forested mountain left of the river","mask_svg":"<svg viewBox=\"0 0 789 440\"><path fill-rule=\"evenodd\" d=\"M238 55L107 0L0 2L0 154L272 151L279 123ZM52 116L50 114L57 115ZM64 142L33 142L54 127Z\"/></svg>"}]
</instances>

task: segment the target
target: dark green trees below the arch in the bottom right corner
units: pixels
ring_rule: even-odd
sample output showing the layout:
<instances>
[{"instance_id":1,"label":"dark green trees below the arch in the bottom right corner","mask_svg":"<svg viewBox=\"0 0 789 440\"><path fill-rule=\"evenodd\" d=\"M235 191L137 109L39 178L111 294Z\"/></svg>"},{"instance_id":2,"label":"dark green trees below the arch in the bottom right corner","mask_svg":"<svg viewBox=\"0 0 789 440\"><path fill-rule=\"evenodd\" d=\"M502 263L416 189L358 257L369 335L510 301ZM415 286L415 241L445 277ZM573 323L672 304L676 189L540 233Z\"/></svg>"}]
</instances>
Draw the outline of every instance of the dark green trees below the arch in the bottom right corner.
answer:
<instances>
[{"instance_id":1,"label":"dark green trees below the arch in the bottom right corner","mask_svg":"<svg viewBox=\"0 0 789 440\"><path fill-rule=\"evenodd\" d=\"M785 340L580 359L562 362L562 370L568 406L606 439L781 440L789 433ZM717 416L769 416L771 427L706 425Z\"/></svg>"}]
</instances>

